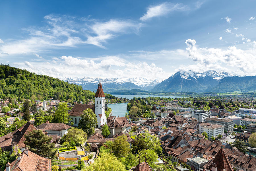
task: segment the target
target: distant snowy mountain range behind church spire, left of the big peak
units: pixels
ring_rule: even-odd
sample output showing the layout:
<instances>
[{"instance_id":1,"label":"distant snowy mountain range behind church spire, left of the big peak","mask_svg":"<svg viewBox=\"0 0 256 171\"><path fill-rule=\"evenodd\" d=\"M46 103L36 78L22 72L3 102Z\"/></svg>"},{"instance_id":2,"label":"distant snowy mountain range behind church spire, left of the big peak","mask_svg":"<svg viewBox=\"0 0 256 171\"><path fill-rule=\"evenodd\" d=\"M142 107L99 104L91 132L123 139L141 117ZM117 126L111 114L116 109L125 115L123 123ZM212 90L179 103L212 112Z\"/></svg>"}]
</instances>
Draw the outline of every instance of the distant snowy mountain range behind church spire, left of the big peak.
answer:
<instances>
[{"instance_id":1,"label":"distant snowy mountain range behind church spire, left of the big peak","mask_svg":"<svg viewBox=\"0 0 256 171\"><path fill-rule=\"evenodd\" d=\"M68 81L69 83L81 85L84 89L88 90L97 90L99 79L91 78L91 77L74 77L74 78L65 78L62 79L64 81ZM160 83L161 79L145 79L143 77L137 78L107 78L101 79L102 86L105 92L112 92L116 90L130 90L130 89L142 89L142 90L150 90L155 85Z\"/></svg>"}]
</instances>

